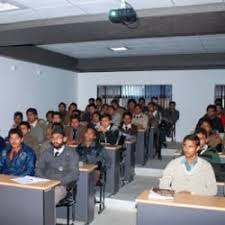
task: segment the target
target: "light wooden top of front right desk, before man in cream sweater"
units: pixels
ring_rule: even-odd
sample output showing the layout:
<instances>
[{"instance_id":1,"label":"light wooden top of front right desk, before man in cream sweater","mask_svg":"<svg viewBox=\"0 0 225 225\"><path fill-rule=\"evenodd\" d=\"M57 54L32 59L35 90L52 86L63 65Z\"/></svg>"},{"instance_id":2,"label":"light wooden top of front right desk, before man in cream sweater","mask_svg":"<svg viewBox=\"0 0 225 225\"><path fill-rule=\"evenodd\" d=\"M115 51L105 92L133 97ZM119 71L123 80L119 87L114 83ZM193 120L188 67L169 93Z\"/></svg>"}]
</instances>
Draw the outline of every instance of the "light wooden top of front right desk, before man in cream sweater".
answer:
<instances>
[{"instance_id":1,"label":"light wooden top of front right desk, before man in cream sweater","mask_svg":"<svg viewBox=\"0 0 225 225\"><path fill-rule=\"evenodd\" d=\"M148 198L149 190L144 191L136 199L137 203L166 205L174 207L187 207L225 212L224 197L208 197L189 194L175 194L174 200L153 200Z\"/></svg>"}]
</instances>

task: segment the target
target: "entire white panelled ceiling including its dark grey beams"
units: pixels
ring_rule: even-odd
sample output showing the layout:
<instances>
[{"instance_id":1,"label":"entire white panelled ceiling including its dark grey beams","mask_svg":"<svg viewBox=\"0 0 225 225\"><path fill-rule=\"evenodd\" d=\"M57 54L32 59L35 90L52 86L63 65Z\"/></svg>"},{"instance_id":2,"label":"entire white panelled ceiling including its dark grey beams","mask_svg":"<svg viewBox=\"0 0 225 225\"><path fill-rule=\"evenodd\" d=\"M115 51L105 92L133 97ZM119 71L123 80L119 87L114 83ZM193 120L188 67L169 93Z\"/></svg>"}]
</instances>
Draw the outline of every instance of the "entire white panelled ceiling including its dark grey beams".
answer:
<instances>
[{"instance_id":1,"label":"entire white panelled ceiling including its dark grey beams","mask_svg":"<svg viewBox=\"0 0 225 225\"><path fill-rule=\"evenodd\" d=\"M82 72L225 68L225 0L128 0L137 29L108 21L120 0L8 2L21 9L0 12L1 55Z\"/></svg>"}]
</instances>

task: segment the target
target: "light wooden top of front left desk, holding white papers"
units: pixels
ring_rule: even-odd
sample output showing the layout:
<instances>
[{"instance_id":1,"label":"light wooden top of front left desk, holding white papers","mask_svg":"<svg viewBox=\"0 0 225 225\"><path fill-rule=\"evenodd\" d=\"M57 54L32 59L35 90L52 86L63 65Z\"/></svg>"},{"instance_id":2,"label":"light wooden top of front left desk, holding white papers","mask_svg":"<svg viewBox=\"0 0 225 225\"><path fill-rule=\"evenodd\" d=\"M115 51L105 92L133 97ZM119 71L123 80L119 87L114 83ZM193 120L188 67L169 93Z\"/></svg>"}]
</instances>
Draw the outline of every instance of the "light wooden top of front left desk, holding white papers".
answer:
<instances>
[{"instance_id":1,"label":"light wooden top of front left desk, holding white papers","mask_svg":"<svg viewBox=\"0 0 225 225\"><path fill-rule=\"evenodd\" d=\"M16 177L0 175L0 185L46 191L46 190L49 190L61 183L60 181L49 180L47 182L38 182L35 184L19 184L19 183L13 181L12 180L13 178L16 178Z\"/></svg>"}]
</instances>

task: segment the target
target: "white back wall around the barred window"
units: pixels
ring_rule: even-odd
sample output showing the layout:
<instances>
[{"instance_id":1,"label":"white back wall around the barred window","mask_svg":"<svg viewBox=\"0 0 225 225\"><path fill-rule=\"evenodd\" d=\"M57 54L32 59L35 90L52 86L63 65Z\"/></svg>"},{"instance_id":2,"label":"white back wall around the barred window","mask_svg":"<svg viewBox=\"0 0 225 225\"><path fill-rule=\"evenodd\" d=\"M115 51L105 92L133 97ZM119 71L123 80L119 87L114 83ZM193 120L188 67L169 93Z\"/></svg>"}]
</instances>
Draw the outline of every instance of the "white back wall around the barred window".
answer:
<instances>
[{"instance_id":1,"label":"white back wall around the barred window","mask_svg":"<svg viewBox=\"0 0 225 225\"><path fill-rule=\"evenodd\" d=\"M180 120L177 140L193 130L199 117L214 101L216 84L225 85L225 70L142 71L78 74L78 104L84 108L88 98L96 97L97 85L172 84Z\"/></svg>"}]
</instances>

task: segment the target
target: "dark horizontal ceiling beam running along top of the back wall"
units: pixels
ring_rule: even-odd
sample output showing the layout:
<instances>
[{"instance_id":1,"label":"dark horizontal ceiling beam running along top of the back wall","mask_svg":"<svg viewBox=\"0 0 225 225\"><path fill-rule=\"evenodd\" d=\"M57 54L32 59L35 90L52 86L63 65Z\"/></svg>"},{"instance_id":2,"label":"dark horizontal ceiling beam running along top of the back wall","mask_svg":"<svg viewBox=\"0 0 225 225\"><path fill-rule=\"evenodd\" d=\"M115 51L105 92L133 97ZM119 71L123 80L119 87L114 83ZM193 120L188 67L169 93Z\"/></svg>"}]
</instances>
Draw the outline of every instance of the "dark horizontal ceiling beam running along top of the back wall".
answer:
<instances>
[{"instance_id":1,"label":"dark horizontal ceiling beam running along top of the back wall","mask_svg":"<svg viewBox=\"0 0 225 225\"><path fill-rule=\"evenodd\" d=\"M77 68L80 72L224 69L225 54L80 59Z\"/></svg>"}]
</instances>

